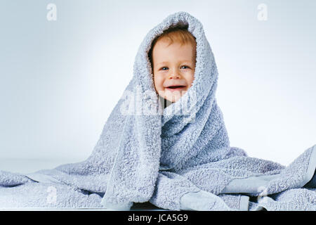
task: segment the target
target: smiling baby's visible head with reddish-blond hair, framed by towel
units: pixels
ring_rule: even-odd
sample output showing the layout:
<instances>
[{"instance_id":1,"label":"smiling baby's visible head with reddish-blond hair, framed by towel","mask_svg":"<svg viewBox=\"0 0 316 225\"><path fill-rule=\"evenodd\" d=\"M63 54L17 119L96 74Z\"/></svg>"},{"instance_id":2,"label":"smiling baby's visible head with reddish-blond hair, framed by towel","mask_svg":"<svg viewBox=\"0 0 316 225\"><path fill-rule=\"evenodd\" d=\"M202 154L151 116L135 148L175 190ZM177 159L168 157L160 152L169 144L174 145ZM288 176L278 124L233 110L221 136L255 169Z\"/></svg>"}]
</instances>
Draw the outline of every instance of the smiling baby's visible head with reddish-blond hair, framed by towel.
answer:
<instances>
[{"instance_id":1,"label":"smiling baby's visible head with reddish-blond hair, framed by towel","mask_svg":"<svg viewBox=\"0 0 316 225\"><path fill-rule=\"evenodd\" d=\"M152 41L148 58L154 89L166 108L185 94L195 79L195 37L186 28L170 28Z\"/></svg>"}]
</instances>

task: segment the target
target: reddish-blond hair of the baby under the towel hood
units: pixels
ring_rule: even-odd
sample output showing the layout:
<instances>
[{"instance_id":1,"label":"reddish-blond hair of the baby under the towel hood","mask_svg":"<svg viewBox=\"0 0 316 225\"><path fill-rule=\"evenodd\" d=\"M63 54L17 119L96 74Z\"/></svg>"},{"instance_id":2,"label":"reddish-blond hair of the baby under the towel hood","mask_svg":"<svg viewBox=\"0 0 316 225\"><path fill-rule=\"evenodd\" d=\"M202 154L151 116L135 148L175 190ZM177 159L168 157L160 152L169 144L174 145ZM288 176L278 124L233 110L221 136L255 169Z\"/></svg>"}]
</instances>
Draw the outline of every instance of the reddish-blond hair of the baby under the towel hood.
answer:
<instances>
[{"instance_id":1,"label":"reddish-blond hair of the baby under the towel hood","mask_svg":"<svg viewBox=\"0 0 316 225\"><path fill-rule=\"evenodd\" d=\"M150 60L150 64L152 65L152 50L154 49L154 45L159 41L160 39L167 39L169 40L169 45L173 43L179 43L180 46L183 46L185 44L192 44L195 49L195 57L196 57L196 46L197 42L195 41L195 37L187 30L187 27L171 27L167 30L164 30L162 34L160 34L158 37L155 37L152 41L152 46L150 48L150 51L148 51L148 58Z\"/></svg>"}]
</instances>

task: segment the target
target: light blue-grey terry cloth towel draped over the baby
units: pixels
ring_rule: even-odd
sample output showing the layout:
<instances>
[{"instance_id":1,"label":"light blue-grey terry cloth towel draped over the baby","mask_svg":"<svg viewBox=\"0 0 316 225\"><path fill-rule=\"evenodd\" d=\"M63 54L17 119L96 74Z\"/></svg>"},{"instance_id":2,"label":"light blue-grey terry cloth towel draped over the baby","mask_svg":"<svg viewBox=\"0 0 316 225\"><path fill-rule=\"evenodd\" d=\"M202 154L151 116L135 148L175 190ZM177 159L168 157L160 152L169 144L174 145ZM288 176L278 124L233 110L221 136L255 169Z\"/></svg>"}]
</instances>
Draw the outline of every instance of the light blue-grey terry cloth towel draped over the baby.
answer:
<instances>
[{"instance_id":1,"label":"light blue-grey terry cloth towel draped over the baby","mask_svg":"<svg viewBox=\"0 0 316 225\"><path fill-rule=\"evenodd\" d=\"M176 26L197 41L195 79L164 108L147 53ZM169 15L140 44L133 77L91 155L31 174L0 171L0 208L130 210L150 202L166 210L316 210L316 145L287 167L230 147L217 84L202 23L183 11Z\"/></svg>"}]
</instances>

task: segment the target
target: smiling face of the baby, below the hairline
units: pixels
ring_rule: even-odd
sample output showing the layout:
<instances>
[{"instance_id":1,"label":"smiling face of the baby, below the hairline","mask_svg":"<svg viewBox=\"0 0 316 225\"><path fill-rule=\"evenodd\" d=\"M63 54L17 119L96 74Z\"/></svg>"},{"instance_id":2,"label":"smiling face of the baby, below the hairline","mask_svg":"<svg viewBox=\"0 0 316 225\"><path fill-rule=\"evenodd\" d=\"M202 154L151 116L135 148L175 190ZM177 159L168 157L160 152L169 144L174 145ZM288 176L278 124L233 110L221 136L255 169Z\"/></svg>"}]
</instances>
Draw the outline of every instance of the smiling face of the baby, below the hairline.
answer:
<instances>
[{"instance_id":1,"label":"smiling face of the baby, below the hairline","mask_svg":"<svg viewBox=\"0 0 316 225\"><path fill-rule=\"evenodd\" d=\"M154 88L162 98L176 102L195 78L195 46L168 44L160 39L152 49Z\"/></svg>"}]
</instances>

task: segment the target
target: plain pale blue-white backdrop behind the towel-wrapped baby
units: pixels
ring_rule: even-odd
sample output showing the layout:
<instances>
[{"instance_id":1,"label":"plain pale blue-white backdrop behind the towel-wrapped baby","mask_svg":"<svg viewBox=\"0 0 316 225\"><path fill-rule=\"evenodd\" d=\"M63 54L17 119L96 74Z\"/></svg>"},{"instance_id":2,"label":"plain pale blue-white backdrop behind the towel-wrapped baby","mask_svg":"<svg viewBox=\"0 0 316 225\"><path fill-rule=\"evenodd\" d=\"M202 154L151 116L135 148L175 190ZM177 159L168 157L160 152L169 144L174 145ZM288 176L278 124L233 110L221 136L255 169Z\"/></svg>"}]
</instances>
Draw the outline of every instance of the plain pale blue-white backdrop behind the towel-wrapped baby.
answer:
<instances>
[{"instance_id":1,"label":"plain pale blue-white backdrop behind the towel-wrapped baby","mask_svg":"<svg viewBox=\"0 0 316 225\"><path fill-rule=\"evenodd\" d=\"M46 18L50 3L55 21ZM259 4L268 20L258 20ZM141 41L178 11L204 26L230 145L289 165L316 144L315 8L306 0L1 1L0 169L88 158Z\"/></svg>"}]
</instances>

